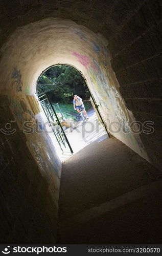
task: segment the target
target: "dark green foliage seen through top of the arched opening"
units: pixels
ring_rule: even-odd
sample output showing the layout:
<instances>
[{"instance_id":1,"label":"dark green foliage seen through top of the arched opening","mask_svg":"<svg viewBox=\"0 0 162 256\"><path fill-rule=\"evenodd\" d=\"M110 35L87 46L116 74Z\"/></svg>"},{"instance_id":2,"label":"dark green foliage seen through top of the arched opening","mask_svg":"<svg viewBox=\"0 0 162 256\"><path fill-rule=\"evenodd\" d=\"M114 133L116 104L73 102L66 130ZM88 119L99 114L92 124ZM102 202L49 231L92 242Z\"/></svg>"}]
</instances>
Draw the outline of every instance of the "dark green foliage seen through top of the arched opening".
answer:
<instances>
[{"instance_id":1,"label":"dark green foliage seen through top of the arched opening","mask_svg":"<svg viewBox=\"0 0 162 256\"><path fill-rule=\"evenodd\" d=\"M67 65L57 65L49 68L39 78L37 93L47 92L53 102L71 102L73 95L89 98L85 80L75 68Z\"/></svg>"}]
</instances>

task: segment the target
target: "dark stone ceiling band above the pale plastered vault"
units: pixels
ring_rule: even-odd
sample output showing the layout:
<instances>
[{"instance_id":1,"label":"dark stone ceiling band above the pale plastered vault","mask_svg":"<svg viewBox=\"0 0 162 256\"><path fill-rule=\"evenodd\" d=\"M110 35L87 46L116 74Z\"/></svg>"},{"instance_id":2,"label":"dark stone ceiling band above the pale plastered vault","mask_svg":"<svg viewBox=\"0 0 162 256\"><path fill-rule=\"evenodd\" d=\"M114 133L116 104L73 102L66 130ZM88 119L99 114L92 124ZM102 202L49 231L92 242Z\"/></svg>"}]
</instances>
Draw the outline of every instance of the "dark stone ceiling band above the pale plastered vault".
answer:
<instances>
[{"instance_id":1,"label":"dark stone ceiling band above the pale plastered vault","mask_svg":"<svg viewBox=\"0 0 162 256\"><path fill-rule=\"evenodd\" d=\"M71 19L110 40L143 2L145 1L1 0L1 45L17 27L47 17Z\"/></svg>"}]
</instances>

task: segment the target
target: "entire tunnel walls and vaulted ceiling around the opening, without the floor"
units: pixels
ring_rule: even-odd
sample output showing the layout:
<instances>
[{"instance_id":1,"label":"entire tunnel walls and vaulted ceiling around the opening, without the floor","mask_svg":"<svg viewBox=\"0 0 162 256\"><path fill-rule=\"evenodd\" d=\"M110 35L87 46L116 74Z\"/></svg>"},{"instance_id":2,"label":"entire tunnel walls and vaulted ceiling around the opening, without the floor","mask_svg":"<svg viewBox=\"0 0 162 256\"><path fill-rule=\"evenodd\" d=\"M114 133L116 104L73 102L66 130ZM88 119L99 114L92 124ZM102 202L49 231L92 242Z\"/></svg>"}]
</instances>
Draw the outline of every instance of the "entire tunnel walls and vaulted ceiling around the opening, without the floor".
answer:
<instances>
[{"instance_id":1,"label":"entire tunnel walls and vaulted ceiling around the opening, without the floor","mask_svg":"<svg viewBox=\"0 0 162 256\"><path fill-rule=\"evenodd\" d=\"M161 177L161 2L1 0L0 13L1 243L57 243L62 163L37 132L37 79L58 63L79 70L110 137Z\"/></svg>"}]
</instances>

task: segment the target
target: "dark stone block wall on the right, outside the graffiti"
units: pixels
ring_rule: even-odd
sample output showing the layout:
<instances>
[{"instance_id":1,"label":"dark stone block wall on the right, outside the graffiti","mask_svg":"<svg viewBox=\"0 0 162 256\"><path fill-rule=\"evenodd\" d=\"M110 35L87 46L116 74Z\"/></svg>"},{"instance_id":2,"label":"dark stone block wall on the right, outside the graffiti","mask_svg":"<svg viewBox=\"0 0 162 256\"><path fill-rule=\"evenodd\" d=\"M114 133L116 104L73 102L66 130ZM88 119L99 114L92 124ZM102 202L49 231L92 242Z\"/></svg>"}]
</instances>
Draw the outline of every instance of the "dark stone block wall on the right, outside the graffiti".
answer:
<instances>
[{"instance_id":1,"label":"dark stone block wall on the right, outside the graffiti","mask_svg":"<svg viewBox=\"0 0 162 256\"><path fill-rule=\"evenodd\" d=\"M108 45L127 108L136 120L154 122L154 133L142 133L141 139L151 163L159 169L162 167L161 17L160 1L140 1Z\"/></svg>"}]
</instances>

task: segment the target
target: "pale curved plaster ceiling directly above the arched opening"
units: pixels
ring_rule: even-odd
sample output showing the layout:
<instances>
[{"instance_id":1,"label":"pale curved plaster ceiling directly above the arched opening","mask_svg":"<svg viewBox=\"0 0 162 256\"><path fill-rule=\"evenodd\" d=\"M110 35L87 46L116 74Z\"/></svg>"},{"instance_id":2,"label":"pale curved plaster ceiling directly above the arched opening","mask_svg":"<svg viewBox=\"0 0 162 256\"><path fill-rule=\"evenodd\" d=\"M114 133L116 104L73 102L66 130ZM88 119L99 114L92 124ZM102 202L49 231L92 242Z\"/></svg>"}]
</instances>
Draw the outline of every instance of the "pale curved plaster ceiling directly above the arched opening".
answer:
<instances>
[{"instance_id":1,"label":"pale curved plaster ceiling directly above the arched opening","mask_svg":"<svg viewBox=\"0 0 162 256\"><path fill-rule=\"evenodd\" d=\"M106 45L103 36L72 20L41 19L16 29L1 48L1 83L7 84L17 69L23 77L24 90L30 84L30 94L35 95L36 81L43 70L64 63L86 75L93 58L102 50L107 54ZM7 87L1 87L3 93L4 89Z\"/></svg>"}]
</instances>

